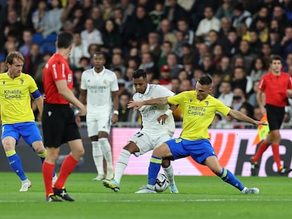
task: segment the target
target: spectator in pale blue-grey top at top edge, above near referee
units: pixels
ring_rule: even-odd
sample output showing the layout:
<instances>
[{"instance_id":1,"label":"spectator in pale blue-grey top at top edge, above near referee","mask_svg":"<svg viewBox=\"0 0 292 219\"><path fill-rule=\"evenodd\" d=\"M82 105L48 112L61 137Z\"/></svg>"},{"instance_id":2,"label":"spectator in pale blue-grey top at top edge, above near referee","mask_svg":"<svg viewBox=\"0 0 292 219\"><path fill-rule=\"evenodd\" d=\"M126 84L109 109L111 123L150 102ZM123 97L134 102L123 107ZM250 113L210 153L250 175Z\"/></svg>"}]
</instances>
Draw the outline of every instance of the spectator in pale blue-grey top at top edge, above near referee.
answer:
<instances>
[{"instance_id":1,"label":"spectator in pale blue-grey top at top edge, above near referee","mask_svg":"<svg viewBox=\"0 0 292 219\"><path fill-rule=\"evenodd\" d=\"M58 34L62 27L61 15L64 11L61 0L51 0L51 7L47 11L44 18L44 32L42 35L44 38L47 35Z\"/></svg>"}]
</instances>

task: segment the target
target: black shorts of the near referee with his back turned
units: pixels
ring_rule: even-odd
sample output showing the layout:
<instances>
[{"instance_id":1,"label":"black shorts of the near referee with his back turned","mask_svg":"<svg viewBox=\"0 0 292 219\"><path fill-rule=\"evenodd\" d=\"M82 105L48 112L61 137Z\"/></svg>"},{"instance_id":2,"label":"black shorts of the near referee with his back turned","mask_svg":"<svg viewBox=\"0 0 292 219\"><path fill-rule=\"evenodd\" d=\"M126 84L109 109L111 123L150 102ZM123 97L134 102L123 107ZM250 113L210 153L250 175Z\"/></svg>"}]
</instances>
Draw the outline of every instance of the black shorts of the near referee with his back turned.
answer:
<instances>
[{"instance_id":1,"label":"black shorts of the near referee with his back turned","mask_svg":"<svg viewBox=\"0 0 292 219\"><path fill-rule=\"evenodd\" d=\"M42 113L44 146L58 148L61 144L80 139L75 116L68 104L44 104Z\"/></svg>"}]
</instances>

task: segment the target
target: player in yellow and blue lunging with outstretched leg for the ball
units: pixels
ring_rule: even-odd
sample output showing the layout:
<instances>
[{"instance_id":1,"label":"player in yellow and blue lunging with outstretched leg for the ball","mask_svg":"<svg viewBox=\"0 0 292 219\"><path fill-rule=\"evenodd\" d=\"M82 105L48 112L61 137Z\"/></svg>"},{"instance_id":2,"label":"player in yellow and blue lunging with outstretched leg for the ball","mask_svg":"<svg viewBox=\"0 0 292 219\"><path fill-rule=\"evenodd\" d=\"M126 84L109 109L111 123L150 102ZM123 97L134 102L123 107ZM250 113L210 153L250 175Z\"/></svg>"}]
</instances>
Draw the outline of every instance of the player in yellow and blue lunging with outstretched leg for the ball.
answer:
<instances>
[{"instance_id":1,"label":"player in yellow and blue lunging with outstretched leg for the ball","mask_svg":"<svg viewBox=\"0 0 292 219\"><path fill-rule=\"evenodd\" d=\"M183 111L181 136L168 140L154 149L148 169L147 187L143 187L136 193L156 193L154 184L162 159L176 160L186 156L191 156L197 163L207 165L224 182L233 185L243 194L258 194L260 192L258 188L245 187L229 170L221 167L217 154L209 142L208 127L217 111L224 116L230 115L236 120L253 125L267 125L267 123L253 120L253 118L225 106L221 101L209 95L211 88L212 79L204 75L197 81L195 91L181 92L175 96L146 101L130 101L128 108L134 108L134 110L138 110L144 105L172 104L180 105Z\"/></svg>"}]
</instances>

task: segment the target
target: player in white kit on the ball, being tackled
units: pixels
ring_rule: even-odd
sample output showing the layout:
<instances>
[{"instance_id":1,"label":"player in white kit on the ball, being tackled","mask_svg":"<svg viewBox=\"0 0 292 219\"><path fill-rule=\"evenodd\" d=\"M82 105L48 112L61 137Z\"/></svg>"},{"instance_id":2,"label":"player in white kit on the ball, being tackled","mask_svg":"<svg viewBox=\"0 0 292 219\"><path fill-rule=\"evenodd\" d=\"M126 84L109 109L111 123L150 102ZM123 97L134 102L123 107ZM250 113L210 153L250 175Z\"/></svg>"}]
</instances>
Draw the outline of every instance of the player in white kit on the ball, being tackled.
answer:
<instances>
[{"instance_id":1,"label":"player in white kit on the ball, being tackled","mask_svg":"<svg viewBox=\"0 0 292 219\"><path fill-rule=\"evenodd\" d=\"M133 73L133 84L136 94L134 101L143 101L157 97L174 96L174 93L161 85L150 85L147 82L145 70L138 69ZM175 124L172 111L176 106L145 106L140 108L142 115L142 129L130 138L126 146L121 150L116 163L115 175L112 180L102 180L105 187L113 189L114 192L120 190L121 177L126 169L131 154L140 156L147 151L151 151L163 142L169 140L174 135ZM162 162L164 173L169 178L171 193L178 193L174 181L174 168L170 160Z\"/></svg>"}]
</instances>

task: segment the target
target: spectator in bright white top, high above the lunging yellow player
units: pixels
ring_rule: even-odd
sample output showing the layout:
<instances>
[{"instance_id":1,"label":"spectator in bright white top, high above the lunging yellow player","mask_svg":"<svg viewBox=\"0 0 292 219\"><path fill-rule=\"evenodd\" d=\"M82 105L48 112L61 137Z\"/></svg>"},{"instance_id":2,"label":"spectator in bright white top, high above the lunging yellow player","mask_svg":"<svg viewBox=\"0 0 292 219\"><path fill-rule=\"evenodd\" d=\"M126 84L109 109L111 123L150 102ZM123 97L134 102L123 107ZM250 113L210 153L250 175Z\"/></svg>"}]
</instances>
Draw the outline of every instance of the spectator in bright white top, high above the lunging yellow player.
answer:
<instances>
[{"instance_id":1,"label":"spectator in bright white top, high above the lunging yellow player","mask_svg":"<svg viewBox=\"0 0 292 219\"><path fill-rule=\"evenodd\" d=\"M205 18L200 21L195 35L197 37L204 37L205 42L209 42L209 37L207 36L207 34L210 30L216 30L217 32L219 32L220 20L214 17L213 8L209 6L205 7L204 16Z\"/></svg>"}]
</instances>

